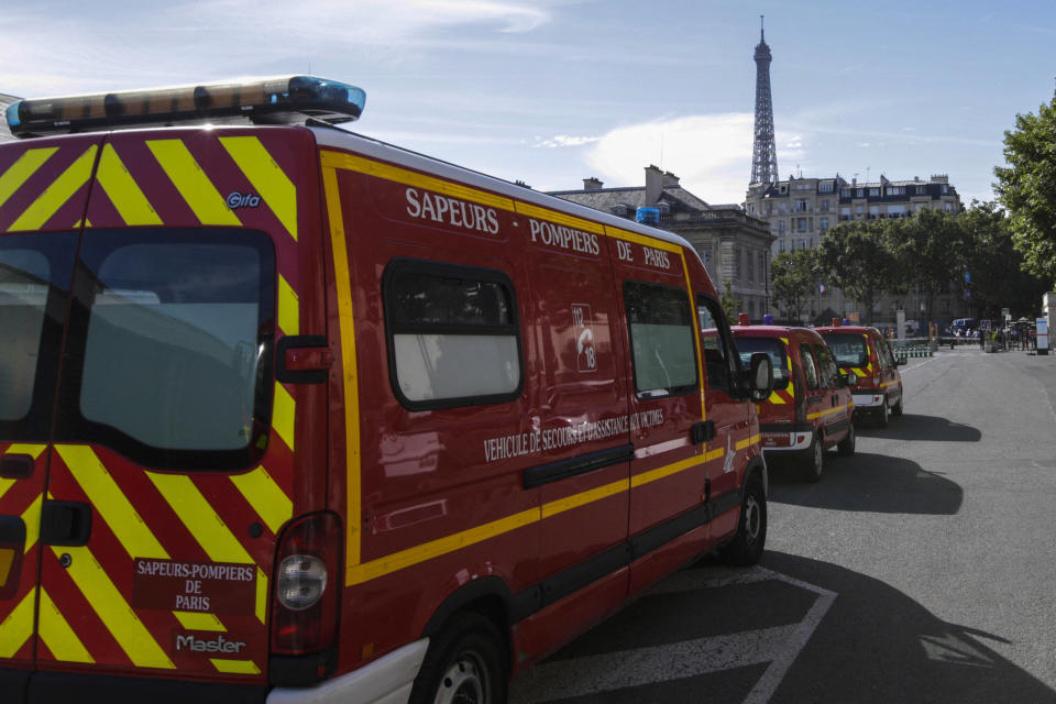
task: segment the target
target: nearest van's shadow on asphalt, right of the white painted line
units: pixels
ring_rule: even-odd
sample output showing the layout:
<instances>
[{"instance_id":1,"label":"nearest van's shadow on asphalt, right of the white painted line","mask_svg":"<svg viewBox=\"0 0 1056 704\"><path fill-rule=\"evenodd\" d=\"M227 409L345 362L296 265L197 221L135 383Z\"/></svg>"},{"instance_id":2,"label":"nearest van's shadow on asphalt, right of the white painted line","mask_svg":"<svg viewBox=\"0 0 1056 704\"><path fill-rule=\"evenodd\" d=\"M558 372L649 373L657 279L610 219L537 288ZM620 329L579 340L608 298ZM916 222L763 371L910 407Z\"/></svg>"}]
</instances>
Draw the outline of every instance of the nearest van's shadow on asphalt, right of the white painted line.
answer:
<instances>
[{"instance_id":1,"label":"nearest van's shadow on asphalt, right of the white painted line","mask_svg":"<svg viewBox=\"0 0 1056 704\"><path fill-rule=\"evenodd\" d=\"M837 594L771 704L1056 702L1042 681L991 650L1009 644L1000 635L946 623L835 564L781 552L767 552L762 564Z\"/></svg>"}]
</instances>

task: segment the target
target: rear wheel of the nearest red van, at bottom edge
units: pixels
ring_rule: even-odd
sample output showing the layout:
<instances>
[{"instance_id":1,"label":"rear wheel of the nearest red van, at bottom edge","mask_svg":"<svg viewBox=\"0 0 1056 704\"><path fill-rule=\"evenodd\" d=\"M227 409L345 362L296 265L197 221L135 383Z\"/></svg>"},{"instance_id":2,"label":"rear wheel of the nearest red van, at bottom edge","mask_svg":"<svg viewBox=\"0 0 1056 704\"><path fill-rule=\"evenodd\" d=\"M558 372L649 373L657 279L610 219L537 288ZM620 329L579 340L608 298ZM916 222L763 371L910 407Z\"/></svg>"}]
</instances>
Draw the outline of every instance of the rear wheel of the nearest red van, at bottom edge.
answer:
<instances>
[{"instance_id":1,"label":"rear wheel of the nearest red van, at bottom edge","mask_svg":"<svg viewBox=\"0 0 1056 704\"><path fill-rule=\"evenodd\" d=\"M504 704L508 668L498 629L461 614L429 644L410 693L413 704Z\"/></svg>"}]
</instances>

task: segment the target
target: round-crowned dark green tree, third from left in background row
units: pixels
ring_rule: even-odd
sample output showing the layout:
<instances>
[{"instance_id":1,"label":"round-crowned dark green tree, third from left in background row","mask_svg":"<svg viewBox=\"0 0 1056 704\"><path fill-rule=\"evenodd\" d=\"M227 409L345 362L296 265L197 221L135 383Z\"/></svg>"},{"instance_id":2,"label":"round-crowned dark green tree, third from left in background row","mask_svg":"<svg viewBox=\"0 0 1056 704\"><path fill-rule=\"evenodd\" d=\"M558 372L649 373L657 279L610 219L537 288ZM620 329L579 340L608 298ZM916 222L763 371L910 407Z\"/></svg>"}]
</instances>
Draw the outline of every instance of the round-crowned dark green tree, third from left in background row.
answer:
<instances>
[{"instance_id":1,"label":"round-crowned dark green tree, third from left in background row","mask_svg":"<svg viewBox=\"0 0 1056 704\"><path fill-rule=\"evenodd\" d=\"M924 299L924 320L934 320L935 296L964 276L969 244L957 216L924 209L886 226L903 289L912 286Z\"/></svg>"}]
</instances>

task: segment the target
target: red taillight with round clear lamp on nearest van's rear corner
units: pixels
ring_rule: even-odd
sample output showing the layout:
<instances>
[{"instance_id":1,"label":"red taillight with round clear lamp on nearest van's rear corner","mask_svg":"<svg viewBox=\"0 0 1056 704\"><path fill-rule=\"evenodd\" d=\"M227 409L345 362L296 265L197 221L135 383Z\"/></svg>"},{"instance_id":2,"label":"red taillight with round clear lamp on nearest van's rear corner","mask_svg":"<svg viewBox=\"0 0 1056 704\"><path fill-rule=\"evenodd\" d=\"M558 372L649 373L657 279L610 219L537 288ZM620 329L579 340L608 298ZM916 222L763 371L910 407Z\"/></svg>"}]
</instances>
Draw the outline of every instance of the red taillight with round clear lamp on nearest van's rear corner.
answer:
<instances>
[{"instance_id":1,"label":"red taillight with round clear lamp on nearest van's rear corner","mask_svg":"<svg viewBox=\"0 0 1056 704\"><path fill-rule=\"evenodd\" d=\"M272 598L272 652L302 654L333 645L341 594L341 521L298 518L279 538Z\"/></svg>"}]
</instances>

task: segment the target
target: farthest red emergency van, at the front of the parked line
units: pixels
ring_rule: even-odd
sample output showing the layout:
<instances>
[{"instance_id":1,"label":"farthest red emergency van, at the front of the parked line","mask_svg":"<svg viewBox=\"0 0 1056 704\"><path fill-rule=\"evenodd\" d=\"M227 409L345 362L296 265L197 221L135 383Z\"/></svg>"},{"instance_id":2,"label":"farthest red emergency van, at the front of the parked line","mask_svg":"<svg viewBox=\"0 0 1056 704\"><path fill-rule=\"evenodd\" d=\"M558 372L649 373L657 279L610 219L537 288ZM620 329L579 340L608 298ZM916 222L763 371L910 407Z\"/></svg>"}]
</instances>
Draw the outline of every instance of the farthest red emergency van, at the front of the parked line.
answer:
<instances>
[{"instance_id":1,"label":"farthest red emergency van, at the front of the parked line","mask_svg":"<svg viewBox=\"0 0 1056 704\"><path fill-rule=\"evenodd\" d=\"M902 374L904 359L894 355L891 344L876 328L833 324L816 328L828 343L840 370L858 377L855 388L855 415L870 416L887 428L891 416L902 415Z\"/></svg>"}]
</instances>

